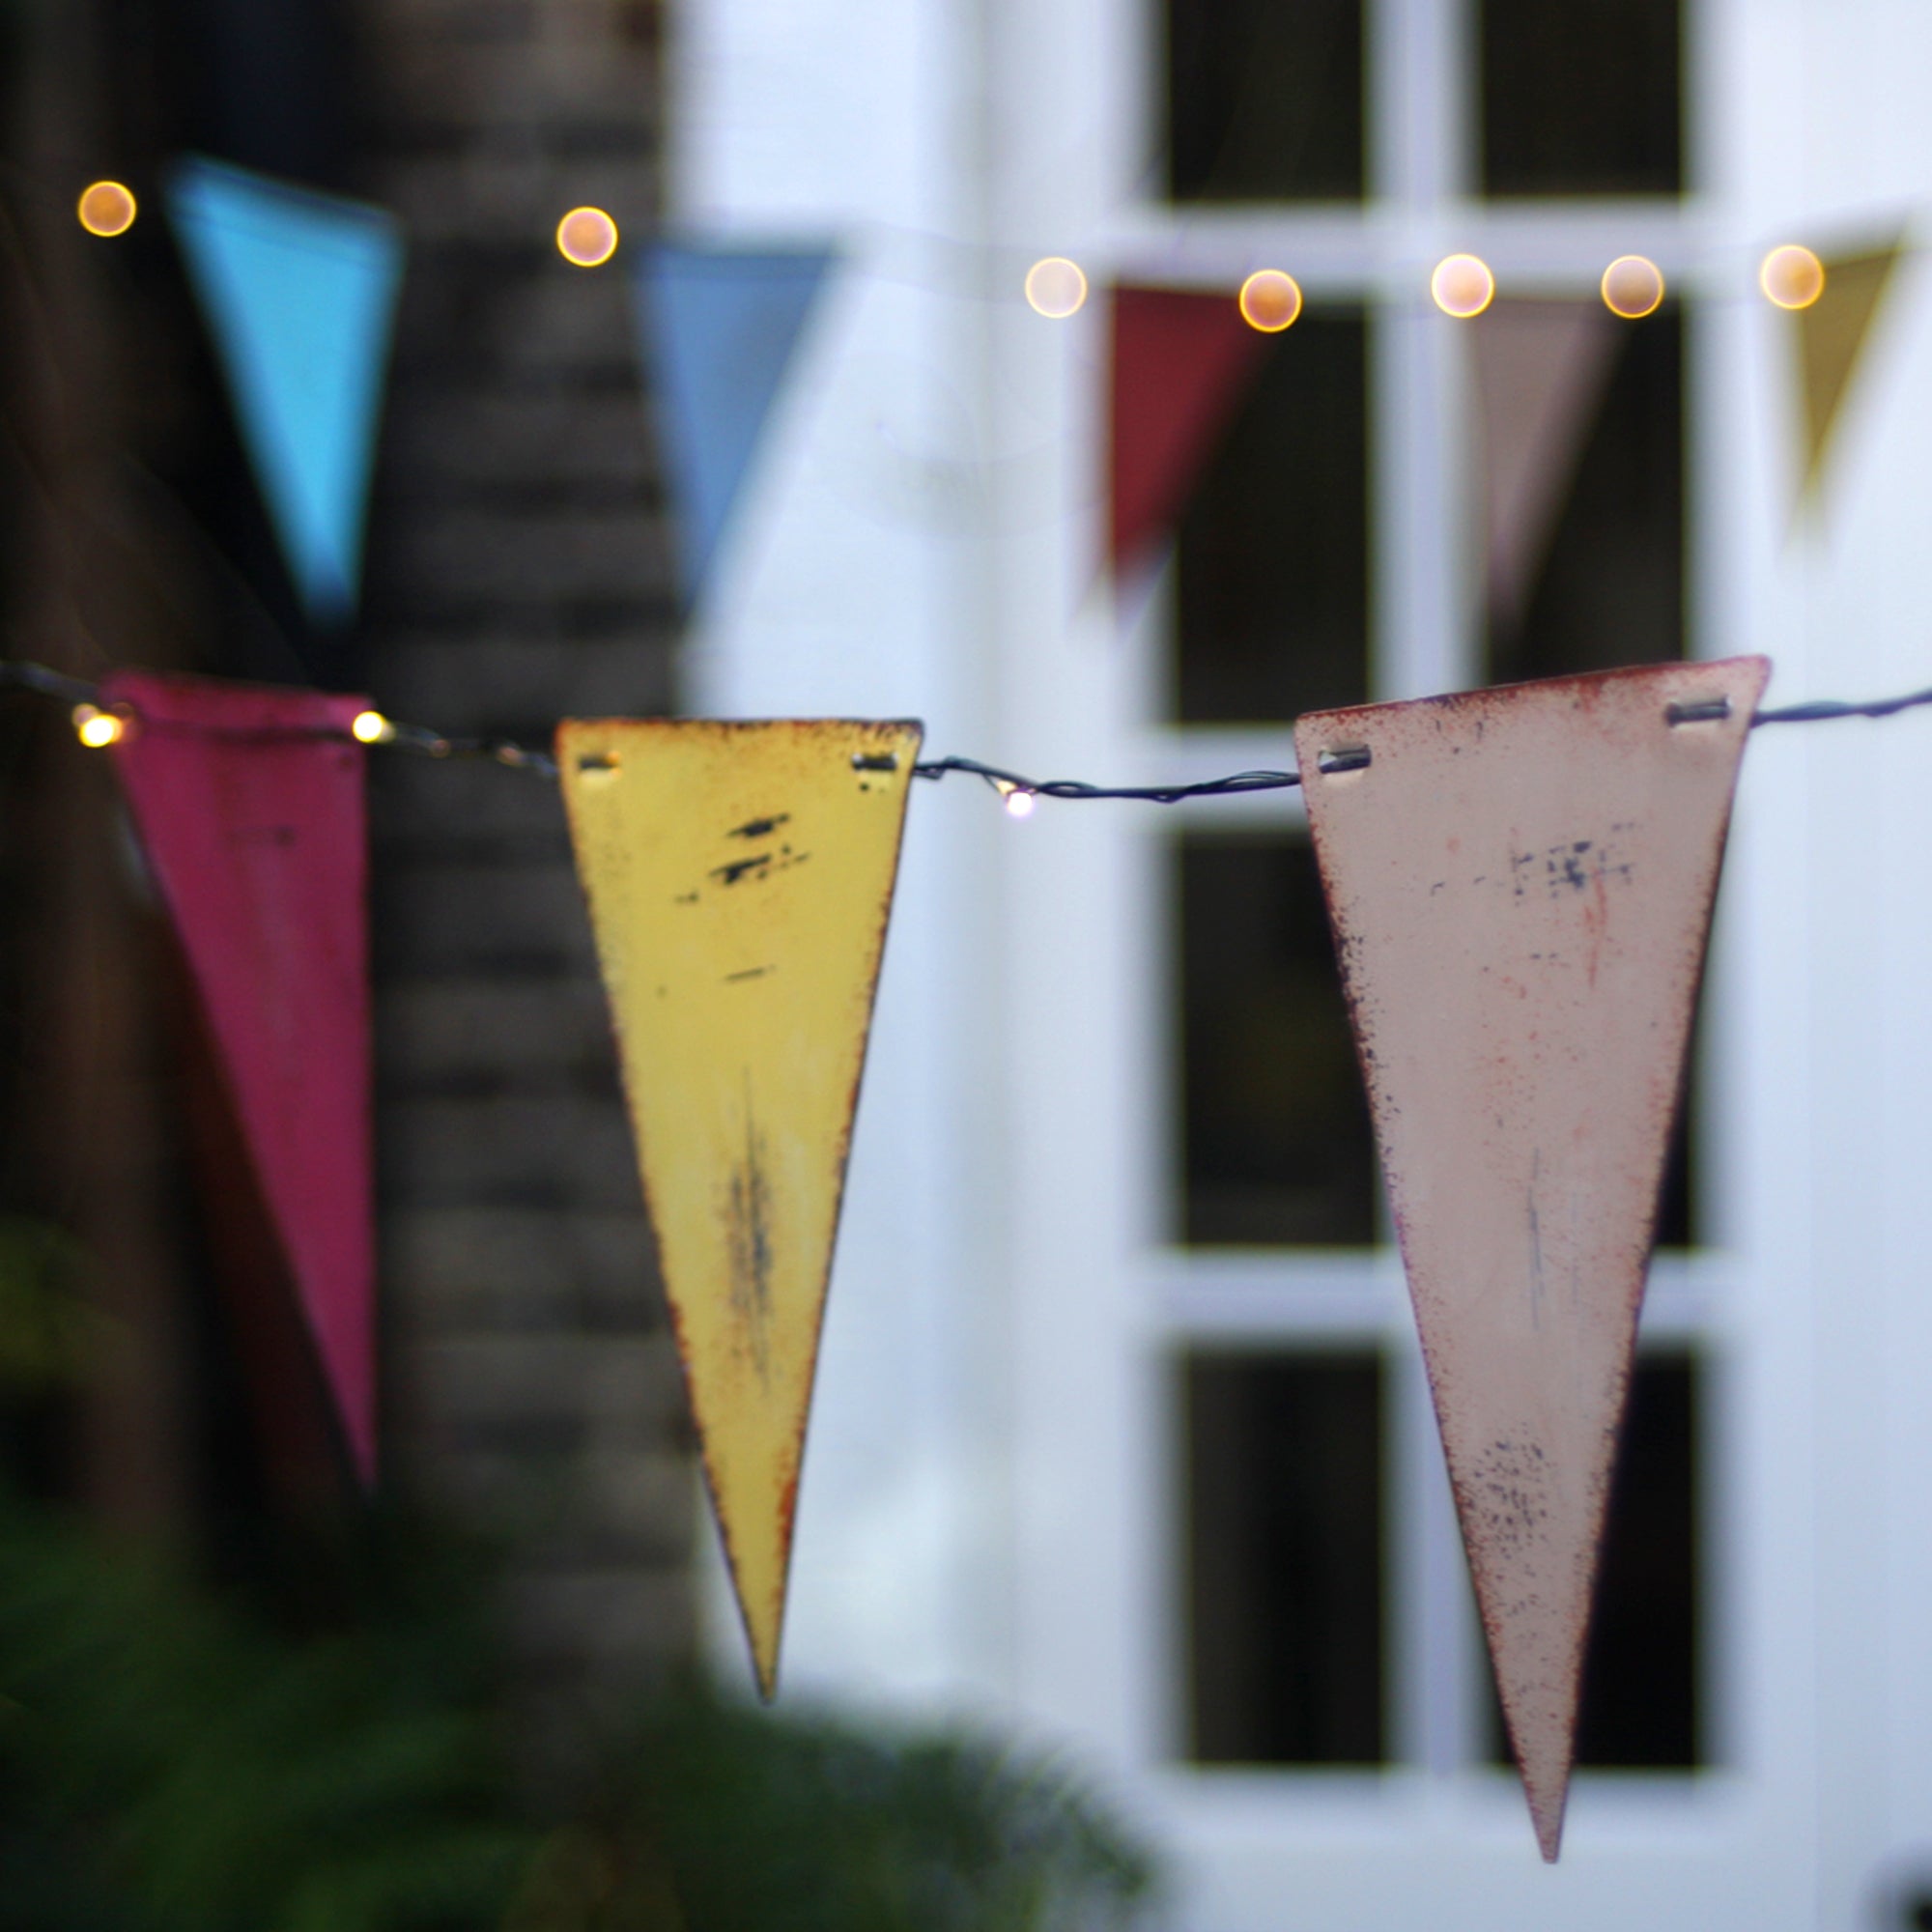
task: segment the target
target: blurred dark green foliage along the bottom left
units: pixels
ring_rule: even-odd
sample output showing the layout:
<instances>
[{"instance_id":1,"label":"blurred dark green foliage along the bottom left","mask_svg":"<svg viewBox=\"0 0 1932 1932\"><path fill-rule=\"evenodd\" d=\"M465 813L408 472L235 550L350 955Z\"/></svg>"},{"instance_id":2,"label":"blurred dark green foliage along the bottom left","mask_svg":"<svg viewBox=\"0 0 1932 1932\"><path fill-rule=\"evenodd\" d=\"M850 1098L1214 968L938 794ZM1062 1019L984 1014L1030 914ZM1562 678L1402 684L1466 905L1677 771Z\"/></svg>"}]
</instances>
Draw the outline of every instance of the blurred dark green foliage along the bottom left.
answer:
<instances>
[{"instance_id":1,"label":"blurred dark green foliage along the bottom left","mask_svg":"<svg viewBox=\"0 0 1932 1932\"><path fill-rule=\"evenodd\" d=\"M363 1542L336 1594L375 1584L290 1634L0 1497L0 1932L1057 1932L1148 1893L1059 1774L697 1689L533 1799L475 1578Z\"/></svg>"}]
</instances>

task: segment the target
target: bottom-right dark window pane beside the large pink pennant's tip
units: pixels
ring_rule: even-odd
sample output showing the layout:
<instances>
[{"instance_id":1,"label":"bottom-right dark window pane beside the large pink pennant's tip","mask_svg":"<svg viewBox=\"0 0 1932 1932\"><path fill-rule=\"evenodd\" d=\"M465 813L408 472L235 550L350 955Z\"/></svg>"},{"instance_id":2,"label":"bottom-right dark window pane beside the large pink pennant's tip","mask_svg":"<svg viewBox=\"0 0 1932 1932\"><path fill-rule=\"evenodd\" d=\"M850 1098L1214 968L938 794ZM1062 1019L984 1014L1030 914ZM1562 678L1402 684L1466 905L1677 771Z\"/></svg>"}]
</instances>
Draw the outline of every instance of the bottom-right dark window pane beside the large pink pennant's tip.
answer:
<instances>
[{"instance_id":1,"label":"bottom-right dark window pane beside the large pink pennant's tip","mask_svg":"<svg viewBox=\"0 0 1932 1932\"><path fill-rule=\"evenodd\" d=\"M1646 1354L1609 1503L1604 1575L1582 1669L1577 1762L1690 1770L1704 1760L1698 1692L1698 1368ZM1490 1756L1511 1762L1495 1694Z\"/></svg>"}]
</instances>

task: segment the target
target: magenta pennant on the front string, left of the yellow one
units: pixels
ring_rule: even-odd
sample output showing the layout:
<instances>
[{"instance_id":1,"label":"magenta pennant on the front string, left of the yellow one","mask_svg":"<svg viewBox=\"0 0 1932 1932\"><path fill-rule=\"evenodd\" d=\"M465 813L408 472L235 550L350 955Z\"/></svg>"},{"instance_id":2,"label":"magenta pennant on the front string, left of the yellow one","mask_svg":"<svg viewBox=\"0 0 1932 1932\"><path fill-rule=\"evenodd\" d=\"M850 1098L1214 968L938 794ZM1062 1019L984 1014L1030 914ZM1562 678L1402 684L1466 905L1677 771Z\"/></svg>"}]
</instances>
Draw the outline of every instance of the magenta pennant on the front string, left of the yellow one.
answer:
<instances>
[{"instance_id":1,"label":"magenta pennant on the front string, left of the yellow one","mask_svg":"<svg viewBox=\"0 0 1932 1932\"><path fill-rule=\"evenodd\" d=\"M201 995L261 1200L375 1478L367 699L114 672L114 761Z\"/></svg>"}]
</instances>

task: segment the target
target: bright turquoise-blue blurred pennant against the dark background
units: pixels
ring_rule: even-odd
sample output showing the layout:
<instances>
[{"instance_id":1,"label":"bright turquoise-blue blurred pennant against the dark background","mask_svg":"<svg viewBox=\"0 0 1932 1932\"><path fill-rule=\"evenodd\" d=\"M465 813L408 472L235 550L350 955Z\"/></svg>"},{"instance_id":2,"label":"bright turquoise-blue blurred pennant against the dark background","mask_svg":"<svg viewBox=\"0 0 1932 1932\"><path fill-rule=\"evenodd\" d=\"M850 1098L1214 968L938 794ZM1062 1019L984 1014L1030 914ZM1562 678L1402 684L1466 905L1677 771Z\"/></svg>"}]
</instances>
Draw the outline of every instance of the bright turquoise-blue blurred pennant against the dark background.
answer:
<instances>
[{"instance_id":1,"label":"bright turquoise-blue blurred pennant against the dark background","mask_svg":"<svg viewBox=\"0 0 1932 1932\"><path fill-rule=\"evenodd\" d=\"M361 587L402 232L390 214L191 156L168 214L303 607L340 624Z\"/></svg>"}]
</instances>

